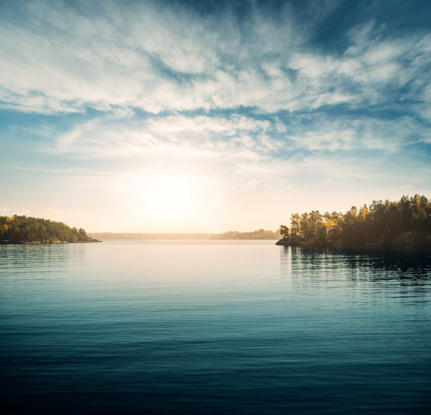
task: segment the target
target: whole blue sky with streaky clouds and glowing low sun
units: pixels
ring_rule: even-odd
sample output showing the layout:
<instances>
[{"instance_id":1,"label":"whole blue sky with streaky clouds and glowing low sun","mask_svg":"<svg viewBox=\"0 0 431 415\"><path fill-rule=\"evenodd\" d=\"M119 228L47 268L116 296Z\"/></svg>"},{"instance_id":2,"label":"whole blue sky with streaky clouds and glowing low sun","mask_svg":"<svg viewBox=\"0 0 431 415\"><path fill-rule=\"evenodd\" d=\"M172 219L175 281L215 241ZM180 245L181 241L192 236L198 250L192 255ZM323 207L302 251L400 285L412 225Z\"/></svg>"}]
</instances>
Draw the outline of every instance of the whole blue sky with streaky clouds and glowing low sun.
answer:
<instances>
[{"instance_id":1,"label":"whole blue sky with streaky clouds and glowing low sun","mask_svg":"<svg viewBox=\"0 0 431 415\"><path fill-rule=\"evenodd\" d=\"M0 215L276 230L431 197L431 1L0 2Z\"/></svg>"}]
</instances>

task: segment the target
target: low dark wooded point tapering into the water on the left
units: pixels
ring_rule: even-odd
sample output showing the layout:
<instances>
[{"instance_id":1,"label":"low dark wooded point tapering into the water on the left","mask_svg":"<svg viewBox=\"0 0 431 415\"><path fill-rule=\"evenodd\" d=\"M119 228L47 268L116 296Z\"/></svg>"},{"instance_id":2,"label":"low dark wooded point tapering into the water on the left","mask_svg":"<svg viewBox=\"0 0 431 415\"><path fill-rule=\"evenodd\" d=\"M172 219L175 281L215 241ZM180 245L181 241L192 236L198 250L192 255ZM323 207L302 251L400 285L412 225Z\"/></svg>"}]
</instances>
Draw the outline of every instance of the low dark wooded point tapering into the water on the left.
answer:
<instances>
[{"instance_id":1,"label":"low dark wooded point tapering into the water on the left","mask_svg":"<svg viewBox=\"0 0 431 415\"><path fill-rule=\"evenodd\" d=\"M9 244L99 242L82 228L69 228L63 222L17 215L0 216L0 241Z\"/></svg>"}]
</instances>

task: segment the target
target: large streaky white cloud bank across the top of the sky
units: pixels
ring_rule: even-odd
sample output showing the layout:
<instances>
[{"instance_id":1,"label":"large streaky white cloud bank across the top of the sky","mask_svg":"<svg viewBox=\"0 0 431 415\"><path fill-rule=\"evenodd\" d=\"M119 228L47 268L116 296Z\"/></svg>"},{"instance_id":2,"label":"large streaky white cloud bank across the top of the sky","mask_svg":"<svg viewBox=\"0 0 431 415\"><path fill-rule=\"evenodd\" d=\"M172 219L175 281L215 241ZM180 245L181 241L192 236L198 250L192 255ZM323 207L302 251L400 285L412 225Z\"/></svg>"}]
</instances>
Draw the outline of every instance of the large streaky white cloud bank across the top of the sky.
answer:
<instances>
[{"instance_id":1,"label":"large streaky white cloud bank across the top of the sky","mask_svg":"<svg viewBox=\"0 0 431 415\"><path fill-rule=\"evenodd\" d=\"M18 7L20 17L0 28L3 108L159 113L249 106L273 113L375 104L387 101L388 88L429 94L421 85L430 83L430 36L396 37L375 23L346 33L349 47L340 55L310 42L309 24L301 28L304 22L257 6L246 23L227 11L202 17L151 2L104 2L97 13L83 4ZM280 13L294 16L287 11Z\"/></svg>"}]
</instances>

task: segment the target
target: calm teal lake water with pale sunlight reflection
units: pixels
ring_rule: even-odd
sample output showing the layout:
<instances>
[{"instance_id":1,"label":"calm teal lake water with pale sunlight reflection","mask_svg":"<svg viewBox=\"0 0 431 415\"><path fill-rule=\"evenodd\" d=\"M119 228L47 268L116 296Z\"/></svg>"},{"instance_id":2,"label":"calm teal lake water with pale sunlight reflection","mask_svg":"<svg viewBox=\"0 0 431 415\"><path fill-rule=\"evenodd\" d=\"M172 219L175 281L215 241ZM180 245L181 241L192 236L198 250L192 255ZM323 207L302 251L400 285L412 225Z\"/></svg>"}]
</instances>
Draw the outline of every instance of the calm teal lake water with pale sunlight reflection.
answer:
<instances>
[{"instance_id":1,"label":"calm teal lake water with pale sunlight reflection","mask_svg":"<svg viewBox=\"0 0 431 415\"><path fill-rule=\"evenodd\" d=\"M431 411L431 255L0 247L5 414Z\"/></svg>"}]
</instances>

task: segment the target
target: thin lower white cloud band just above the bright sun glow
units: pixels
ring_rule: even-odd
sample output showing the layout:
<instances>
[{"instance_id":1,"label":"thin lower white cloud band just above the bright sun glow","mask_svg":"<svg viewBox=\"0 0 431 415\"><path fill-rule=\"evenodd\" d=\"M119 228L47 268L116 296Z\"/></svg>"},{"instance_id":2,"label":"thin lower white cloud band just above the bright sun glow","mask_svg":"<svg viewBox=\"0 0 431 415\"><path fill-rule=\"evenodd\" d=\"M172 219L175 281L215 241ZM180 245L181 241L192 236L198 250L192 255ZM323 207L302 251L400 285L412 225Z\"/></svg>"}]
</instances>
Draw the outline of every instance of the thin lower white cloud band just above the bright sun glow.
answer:
<instances>
[{"instance_id":1,"label":"thin lower white cloud band just above the bright sun glow","mask_svg":"<svg viewBox=\"0 0 431 415\"><path fill-rule=\"evenodd\" d=\"M223 177L227 186L236 181L285 188L312 172L319 180L339 180L341 175L372 182L373 177L394 175L390 163L406 171L408 152L427 142L427 132L426 125L409 116L392 120L349 114L334 117L327 112L287 118L238 113L145 119L100 116L58 135L49 151L53 156L68 154L87 160L89 168L77 170L79 175L92 175L92 163L99 160L112 174L137 171L151 177L181 172ZM392 161L379 173L382 159ZM372 175L358 175L367 165L373 165ZM416 166L417 171L409 173L411 180L427 174L425 166Z\"/></svg>"}]
</instances>

